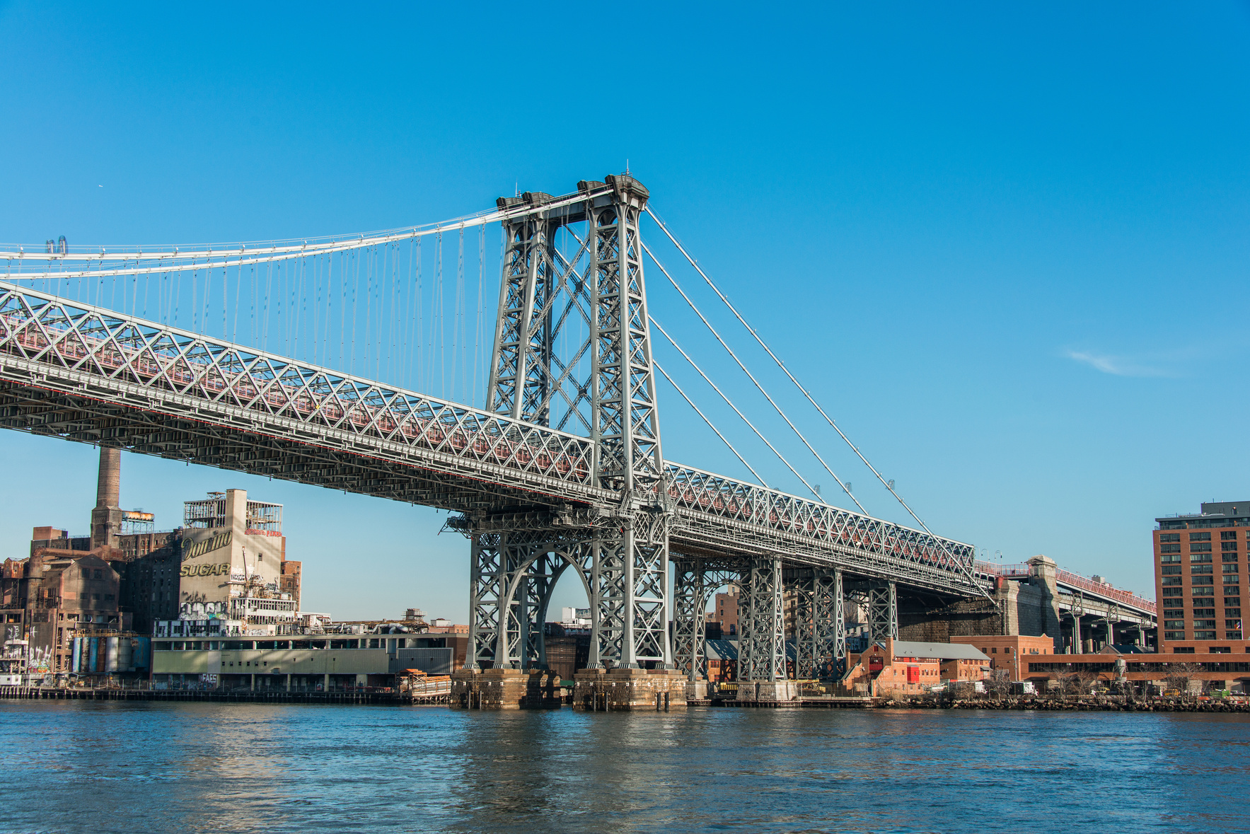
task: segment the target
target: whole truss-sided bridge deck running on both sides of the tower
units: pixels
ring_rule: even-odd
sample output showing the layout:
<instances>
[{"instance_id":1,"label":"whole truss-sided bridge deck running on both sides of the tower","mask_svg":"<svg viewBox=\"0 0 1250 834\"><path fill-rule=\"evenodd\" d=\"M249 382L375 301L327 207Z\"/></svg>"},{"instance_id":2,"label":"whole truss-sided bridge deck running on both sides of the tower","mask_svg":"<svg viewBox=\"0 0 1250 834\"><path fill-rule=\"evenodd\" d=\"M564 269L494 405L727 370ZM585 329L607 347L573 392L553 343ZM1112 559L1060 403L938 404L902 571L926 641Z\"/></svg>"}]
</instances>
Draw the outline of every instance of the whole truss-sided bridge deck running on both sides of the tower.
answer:
<instances>
[{"instance_id":1,"label":"whole truss-sided bridge deck running on both sides of the tower","mask_svg":"<svg viewBox=\"0 0 1250 834\"><path fill-rule=\"evenodd\" d=\"M555 431L0 281L0 425L465 514L581 519L621 495ZM970 596L971 545L681 464L641 496L674 558L788 564Z\"/></svg>"}]
</instances>

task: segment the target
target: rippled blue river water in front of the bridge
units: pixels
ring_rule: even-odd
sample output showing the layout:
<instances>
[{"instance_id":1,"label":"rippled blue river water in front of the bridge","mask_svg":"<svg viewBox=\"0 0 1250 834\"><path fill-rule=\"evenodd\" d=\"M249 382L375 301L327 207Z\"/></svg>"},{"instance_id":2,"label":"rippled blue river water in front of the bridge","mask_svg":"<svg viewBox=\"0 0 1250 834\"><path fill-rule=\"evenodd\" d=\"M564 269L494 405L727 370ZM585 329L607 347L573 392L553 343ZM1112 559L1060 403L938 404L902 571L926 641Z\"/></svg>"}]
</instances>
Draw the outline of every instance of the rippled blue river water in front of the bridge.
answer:
<instances>
[{"instance_id":1,"label":"rippled blue river water in front of the bridge","mask_svg":"<svg viewBox=\"0 0 1250 834\"><path fill-rule=\"evenodd\" d=\"M1250 716L0 701L2 831L1232 831Z\"/></svg>"}]
</instances>

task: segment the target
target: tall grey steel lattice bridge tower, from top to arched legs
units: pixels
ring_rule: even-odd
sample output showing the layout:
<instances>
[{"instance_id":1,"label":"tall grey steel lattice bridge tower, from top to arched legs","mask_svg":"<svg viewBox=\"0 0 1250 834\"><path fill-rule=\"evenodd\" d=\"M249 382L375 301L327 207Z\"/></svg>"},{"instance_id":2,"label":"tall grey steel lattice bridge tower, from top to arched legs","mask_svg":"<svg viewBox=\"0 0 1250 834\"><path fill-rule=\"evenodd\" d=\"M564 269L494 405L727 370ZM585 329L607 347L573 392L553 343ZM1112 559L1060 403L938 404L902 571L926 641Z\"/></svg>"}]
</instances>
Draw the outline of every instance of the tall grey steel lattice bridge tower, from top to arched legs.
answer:
<instances>
[{"instance_id":1,"label":"tall grey steel lattice bridge tower, from top to arched legs","mask_svg":"<svg viewBox=\"0 0 1250 834\"><path fill-rule=\"evenodd\" d=\"M470 668L542 668L542 624L575 569L591 609L590 668L669 668L669 528L639 220L628 176L581 181L580 199L500 198L506 249L488 408L581 433L605 503L564 511L484 506L471 540ZM551 205L556 204L556 205ZM562 238L561 240L558 240ZM561 245L562 243L562 245Z\"/></svg>"}]
</instances>

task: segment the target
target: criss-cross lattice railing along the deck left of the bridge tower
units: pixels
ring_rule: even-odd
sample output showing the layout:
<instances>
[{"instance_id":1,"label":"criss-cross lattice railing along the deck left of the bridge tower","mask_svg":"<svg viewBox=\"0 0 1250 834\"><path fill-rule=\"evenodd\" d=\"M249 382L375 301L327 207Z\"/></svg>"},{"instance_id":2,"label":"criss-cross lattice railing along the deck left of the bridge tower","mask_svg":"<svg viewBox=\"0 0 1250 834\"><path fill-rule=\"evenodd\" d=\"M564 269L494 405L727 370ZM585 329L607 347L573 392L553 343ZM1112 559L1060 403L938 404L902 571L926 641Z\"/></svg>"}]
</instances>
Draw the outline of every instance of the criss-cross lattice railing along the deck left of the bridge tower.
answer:
<instances>
[{"instance_id":1,"label":"criss-cross lattice railing along the deck left of the bridge tower","mask_svg":"<svg viewBox=\"0 0 1250 834\"><path fill-rule=\"evenodd\" d=\"M0 281L0 354L560 481L585 438Z\"/></svg>"}]
</instances>

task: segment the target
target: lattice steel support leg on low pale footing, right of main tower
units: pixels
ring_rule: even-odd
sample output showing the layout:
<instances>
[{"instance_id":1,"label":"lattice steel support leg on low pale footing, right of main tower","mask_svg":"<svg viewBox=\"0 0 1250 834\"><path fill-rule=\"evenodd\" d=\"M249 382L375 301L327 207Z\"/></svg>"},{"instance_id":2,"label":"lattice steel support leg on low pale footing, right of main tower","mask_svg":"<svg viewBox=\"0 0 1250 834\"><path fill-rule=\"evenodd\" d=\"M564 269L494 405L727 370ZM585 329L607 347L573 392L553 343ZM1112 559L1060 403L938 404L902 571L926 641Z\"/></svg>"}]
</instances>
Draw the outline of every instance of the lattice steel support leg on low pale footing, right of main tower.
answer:
<instances>
[{"instance_id":1,"label":"lattice steel support leg on low pale footing, right of main tower","mask_svg":"<svg viewBox=\"0 0 1250 834\"><path fill-rule=\"evenodd\" d=\"M756 556L742 576L738 646L740 680L786 679L780 558Z\"/></svg>"}]
</instances>

